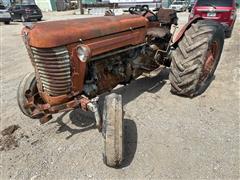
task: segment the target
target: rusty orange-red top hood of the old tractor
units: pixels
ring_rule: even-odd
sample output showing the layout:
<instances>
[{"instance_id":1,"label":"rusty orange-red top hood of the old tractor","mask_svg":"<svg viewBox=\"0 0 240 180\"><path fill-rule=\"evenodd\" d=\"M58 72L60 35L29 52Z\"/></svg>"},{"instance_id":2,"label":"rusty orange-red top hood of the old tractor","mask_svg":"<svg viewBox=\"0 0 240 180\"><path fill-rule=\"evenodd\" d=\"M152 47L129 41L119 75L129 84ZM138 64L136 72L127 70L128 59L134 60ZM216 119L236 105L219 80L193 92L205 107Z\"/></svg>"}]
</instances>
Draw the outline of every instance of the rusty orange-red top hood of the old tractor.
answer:
<instances>
[{"instance_id":1,"label":"rusty orange-red top hood of the old tractor","mask_svg":"<svg viewBox=\"0 0 240 180\"><path fill-rule=\"evenodd\" d=\"M104 16L41 22L24 27L23 32L27 32L30 46L51 48L146 27L147 23L138 15Z\"/></svg>"}]
</instances>

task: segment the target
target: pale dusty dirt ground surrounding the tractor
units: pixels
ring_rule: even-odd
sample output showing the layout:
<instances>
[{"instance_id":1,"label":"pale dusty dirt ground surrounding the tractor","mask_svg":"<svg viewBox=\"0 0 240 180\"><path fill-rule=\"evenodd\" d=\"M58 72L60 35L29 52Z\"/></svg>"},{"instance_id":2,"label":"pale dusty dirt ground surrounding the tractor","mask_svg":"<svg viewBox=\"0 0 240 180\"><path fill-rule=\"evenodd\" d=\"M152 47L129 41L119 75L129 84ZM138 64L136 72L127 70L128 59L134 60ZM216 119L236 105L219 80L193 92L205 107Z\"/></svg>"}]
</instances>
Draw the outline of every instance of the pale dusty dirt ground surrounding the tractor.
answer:
<instances>
[{"instance_id":1,"label":"pale dusty dirt ground surrounding the tractor","mask_svg":"<svg viewBox=\"0 0 240 180\"><path fill-rule=\"evenodd\" d=\"M45 19L77 17L45 13ZM187 13L179 16L187 21ZM1 179L239 179L240 23L225 40L207 91L194 99L172 95L168 73L114 90L123 95L126 158L119 169L102 162L93 115L57 114L49 123L24 116L17 87L32 72L20 22L0 25L1 127L18 125L17 146L1 153ZM154 87L154 88L152 88ZM102 97L103 98L103 97Z\"/></svg>"}]
</instances>

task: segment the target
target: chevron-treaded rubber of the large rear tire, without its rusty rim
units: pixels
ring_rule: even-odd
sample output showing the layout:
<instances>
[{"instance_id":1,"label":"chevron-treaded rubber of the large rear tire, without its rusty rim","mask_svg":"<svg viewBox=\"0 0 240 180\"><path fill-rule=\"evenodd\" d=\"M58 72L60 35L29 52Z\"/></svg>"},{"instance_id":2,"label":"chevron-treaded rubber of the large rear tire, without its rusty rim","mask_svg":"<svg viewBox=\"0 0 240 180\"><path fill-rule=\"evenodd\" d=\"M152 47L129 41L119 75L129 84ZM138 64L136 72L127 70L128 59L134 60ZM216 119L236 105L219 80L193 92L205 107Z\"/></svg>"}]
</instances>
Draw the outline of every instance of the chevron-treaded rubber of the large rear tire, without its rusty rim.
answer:
<instances>
[{"instance_id":1,"label":"chevron-treaded rubber of the large rear tire, without its rusty rim","mask_svg":"<svg viewBox=\"0 0 240 180\"><path fill-rule=\"evenodd\" d=\"M200 20L192 24L185 32L178 47L171 54L169 79L172 93L193 97L201 94L202 90L206 88L205 84L200 87L199 79L209 44L215 36L220 39L221 55L224 32L219 23L212 20Z\"/></svg>"}]
</instances>

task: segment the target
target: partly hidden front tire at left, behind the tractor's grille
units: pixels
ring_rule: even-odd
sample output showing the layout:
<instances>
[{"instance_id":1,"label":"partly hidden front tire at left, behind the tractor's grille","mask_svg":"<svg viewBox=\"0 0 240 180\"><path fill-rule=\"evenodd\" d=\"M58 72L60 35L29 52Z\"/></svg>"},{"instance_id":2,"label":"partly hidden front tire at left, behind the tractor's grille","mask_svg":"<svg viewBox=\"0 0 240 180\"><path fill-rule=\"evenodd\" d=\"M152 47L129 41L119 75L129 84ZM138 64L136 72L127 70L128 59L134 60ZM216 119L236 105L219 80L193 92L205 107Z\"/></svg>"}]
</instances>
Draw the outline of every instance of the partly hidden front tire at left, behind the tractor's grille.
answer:
<instances>
[{"instance_id":1,"label":"partly hidden front tire at left, behind the tractor's grille","mask_svg":"<svg viewBox=\"0 0 240 180\"><path fill-rule=\"evenodd\" d=\"M28 117L31 117L32 110L30 108L25 107L25 103L27 101L26 92L29 91L30 95L34 95L37 93L37 81L34 73L28 73L21 80L18 91L17 91L17 101L18 106L23 114ZM32 118L32 117L31 117Z\"/></svg>"}]
</instances>

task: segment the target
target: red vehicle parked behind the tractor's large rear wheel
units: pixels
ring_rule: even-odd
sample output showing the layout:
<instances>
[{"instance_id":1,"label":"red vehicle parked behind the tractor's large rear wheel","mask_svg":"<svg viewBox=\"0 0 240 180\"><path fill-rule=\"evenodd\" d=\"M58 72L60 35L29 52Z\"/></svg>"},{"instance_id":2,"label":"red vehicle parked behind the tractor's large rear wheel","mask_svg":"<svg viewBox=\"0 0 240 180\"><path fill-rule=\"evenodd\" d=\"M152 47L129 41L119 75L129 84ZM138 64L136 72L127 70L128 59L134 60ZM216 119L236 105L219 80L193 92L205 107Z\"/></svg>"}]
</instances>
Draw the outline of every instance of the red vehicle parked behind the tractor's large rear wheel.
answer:
<instances>
[{"instance_id":1,"label":"red vehicle parked behind the tractor's large rear wheel","mask_svg":"<svg viewBox=\"0 0 240 180\"><path fill-rule=\"evenodd\" d=\"M237 7L236 0L197 0L189 20L194 16L216 20L225 28L225 37L230 38L237 17Z\"/></svg>"}]
</instances>

